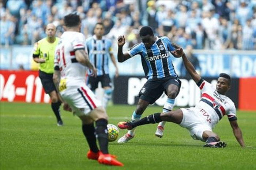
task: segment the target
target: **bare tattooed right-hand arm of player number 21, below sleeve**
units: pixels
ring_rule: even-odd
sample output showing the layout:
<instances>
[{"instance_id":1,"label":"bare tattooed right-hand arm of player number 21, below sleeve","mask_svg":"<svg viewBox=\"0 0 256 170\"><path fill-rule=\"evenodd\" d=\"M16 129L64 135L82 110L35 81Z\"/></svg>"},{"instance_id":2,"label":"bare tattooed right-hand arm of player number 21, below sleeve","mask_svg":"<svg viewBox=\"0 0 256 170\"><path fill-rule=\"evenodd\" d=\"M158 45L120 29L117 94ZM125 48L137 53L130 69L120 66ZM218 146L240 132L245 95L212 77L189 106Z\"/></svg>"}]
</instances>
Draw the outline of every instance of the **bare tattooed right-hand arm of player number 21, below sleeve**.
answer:
<instances>
[{"instance_id":1,"label":"bare tattooed right-hand arm of player number 21, below sleeve","mask_svg":"<svg viewBox=\"0 0 256 170\"><path fill-rule=\"evenodd\" d=\"M82 65L88 67L89 69L91 69L91 71L93 72L91 75L93 76L97 76L97 70L95 69L95 67L93 66L93 64L91 64L87 53L85 52L85 50L76 50L75 51L75 56L76 56L76 60L81 63Z\"/></svg>"}]
</instances>

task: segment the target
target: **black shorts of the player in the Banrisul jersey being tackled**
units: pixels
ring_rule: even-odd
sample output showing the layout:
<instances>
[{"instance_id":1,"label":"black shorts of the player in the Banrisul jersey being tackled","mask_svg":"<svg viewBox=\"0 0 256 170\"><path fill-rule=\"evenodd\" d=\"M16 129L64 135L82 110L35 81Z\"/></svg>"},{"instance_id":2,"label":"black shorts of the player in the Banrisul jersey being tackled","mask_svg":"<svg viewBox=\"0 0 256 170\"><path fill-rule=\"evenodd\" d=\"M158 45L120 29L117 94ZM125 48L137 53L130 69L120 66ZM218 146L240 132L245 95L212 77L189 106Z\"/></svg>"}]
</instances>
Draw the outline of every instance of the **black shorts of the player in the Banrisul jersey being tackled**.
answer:
<instances>
[{"instance_id":1,"label":"black shorts of the player in the Banrisul jersey being tackled","mask_svg":"<svg viewBox=\"0 0 256 170\"><path fill-rule=\"evenodd\" d=\"M162 79L147 80L139 92L139 97L150 104L153 104L163 94L163 92L167 94L166 90L170 84L175 84L179 87L177 92L178 95L181 87L180 79L176 77L166 77Z\"/></svg>"}]
</instances>

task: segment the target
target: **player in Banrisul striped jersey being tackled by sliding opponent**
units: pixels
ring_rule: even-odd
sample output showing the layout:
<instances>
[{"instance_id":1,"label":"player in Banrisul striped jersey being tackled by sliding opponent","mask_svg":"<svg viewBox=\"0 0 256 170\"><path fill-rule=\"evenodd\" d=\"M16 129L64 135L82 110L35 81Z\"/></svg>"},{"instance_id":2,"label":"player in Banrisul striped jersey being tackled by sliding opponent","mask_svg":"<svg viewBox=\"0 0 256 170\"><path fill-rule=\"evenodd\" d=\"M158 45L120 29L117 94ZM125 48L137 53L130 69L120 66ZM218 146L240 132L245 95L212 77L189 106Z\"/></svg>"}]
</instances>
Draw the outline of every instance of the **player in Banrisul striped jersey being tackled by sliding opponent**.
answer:
<instances>
[{"instance_id":1,"label":"player in Banrisul striped jersey being tackled by sliding opponent","mask_svg":"<svg viewBox=\"0 0 256 170\"><path fill-rule=\"evenodd\" d=\"M171 111L174 106L174 101L180 90L181 81L178 79L172 59L171 51L176 51L174 57L182 56L182 49L174 48L170 39L166 36L157 37L153 34L153 29L144 26L140 29L140 37L142 42L133 46L128 52L123 53L123 45L125 37L118 37L118 62L132 58L135 55L140 55L142 67L145 73L147 82L139 92L139 102L136 110L132 114L132 121L139 120L148 104L153 104L162 94L168 96L166 103L163 106L163 112ZM180 55L179 55L180 54ZM163 128L165 122L160 122L155 135L163 136ZM129 130L127 134L118 139L118 143L128 142L134 137L135 129Z\"/></svg>"}]
</instances>

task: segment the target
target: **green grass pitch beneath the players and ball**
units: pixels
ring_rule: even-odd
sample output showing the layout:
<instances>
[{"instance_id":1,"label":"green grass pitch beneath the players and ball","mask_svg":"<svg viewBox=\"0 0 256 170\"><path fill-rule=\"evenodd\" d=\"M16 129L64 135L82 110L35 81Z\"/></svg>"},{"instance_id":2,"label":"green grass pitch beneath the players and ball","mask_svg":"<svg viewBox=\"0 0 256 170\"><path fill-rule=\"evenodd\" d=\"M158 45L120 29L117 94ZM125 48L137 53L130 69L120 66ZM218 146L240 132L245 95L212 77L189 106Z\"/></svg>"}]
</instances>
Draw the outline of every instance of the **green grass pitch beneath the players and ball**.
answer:
<instances>
[{"instance_id":1,"label":"green grass pitch beneath the players and ball","mask_svg":"<svg viewBox=\"0 0 256 170\"><path fill-rule=\"evenodd\" d=\"M114 105L107 109L109 123L129 119L136 106ZM143 116L161 112L149 106ZM163 138L154 136L157 124L136 129L130 142L109 143L109 151L118 156L124 167L100 165L88 160L88 146L80 120L61 109L64 126L58 127L50 104L0 104L0 169L1 170L166 170L166 169L256 169L256 111L237 111L246 148L237 143L227 117L214 131L226 148L203 148L186 129L167 123ZM119 137L126 133L120 130ZM118 138L119 138L118 137Z\"/></svg>"}]
</instances>

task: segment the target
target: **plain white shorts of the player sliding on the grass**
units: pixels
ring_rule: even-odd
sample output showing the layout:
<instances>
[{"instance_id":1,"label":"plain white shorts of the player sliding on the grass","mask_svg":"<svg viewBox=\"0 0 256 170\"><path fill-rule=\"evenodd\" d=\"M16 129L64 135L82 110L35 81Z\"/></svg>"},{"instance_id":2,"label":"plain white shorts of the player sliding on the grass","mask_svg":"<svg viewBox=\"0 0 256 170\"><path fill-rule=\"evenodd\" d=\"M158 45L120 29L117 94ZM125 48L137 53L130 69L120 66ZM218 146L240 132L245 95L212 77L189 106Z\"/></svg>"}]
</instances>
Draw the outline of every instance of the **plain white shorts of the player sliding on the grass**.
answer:
<instances>
[{"instance_id":1,"label":"plain white shorts of the player sliding on the grass","mask_svg":"<svg viewBox=\"0 0 256 170\"><path fill-rule=\"evenodd\" d=\"M212 131L212 128L201 116L200 110L195 107L190 107L181 108L181 111L183 112L183 119L180 126L185 127L193 139L205 141L203 139L203 132L206 130Z\"/></svg>"}]
</instances>

